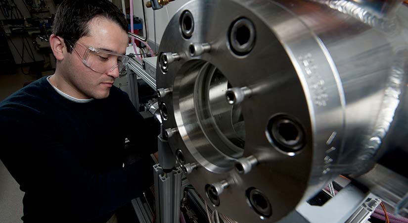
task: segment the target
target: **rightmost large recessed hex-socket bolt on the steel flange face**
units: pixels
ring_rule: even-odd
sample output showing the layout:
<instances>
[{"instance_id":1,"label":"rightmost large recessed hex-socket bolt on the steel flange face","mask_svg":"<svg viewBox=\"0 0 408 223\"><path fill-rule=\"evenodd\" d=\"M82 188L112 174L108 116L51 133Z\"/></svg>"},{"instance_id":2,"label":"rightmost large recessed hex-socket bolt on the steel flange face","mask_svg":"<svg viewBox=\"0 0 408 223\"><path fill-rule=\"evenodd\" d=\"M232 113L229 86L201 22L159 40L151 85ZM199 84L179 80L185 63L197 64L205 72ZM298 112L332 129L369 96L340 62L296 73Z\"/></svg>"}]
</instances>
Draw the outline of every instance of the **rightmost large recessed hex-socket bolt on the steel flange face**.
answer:
<instances>
[{"instance_id":1,"label":"rightmost large recessed hex-socket bolt on the steel flange face","mask_svg":"<svg viewBox=\"0 0 408 223\"><path fill-rule=\"evenodd\" d=\"M302 125L287 115L271 118L267 127L270 142L284 152L294 155L305 145L305 133Z\"/></svg>"}]
</instances>

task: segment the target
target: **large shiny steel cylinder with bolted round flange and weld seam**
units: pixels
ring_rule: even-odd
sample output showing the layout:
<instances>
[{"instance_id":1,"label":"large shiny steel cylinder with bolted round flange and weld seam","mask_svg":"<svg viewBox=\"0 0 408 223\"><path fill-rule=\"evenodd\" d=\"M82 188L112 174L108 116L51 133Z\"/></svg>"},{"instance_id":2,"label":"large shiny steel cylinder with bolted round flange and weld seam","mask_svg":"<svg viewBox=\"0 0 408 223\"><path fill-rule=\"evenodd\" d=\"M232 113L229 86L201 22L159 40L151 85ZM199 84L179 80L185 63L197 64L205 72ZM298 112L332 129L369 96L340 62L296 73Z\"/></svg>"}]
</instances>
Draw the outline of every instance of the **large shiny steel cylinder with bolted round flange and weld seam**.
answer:
<instances>
[{"instance_id":1,"label":"large shiny steel cylinder with bolted round flange and weld seam","mask_svg":"<svg viewBox=\"0 0 408 223\"><path fill-rule=\"evenodd\" d=\"M338 174L372 168L391 130L404 145L407 18L396 1L384 13L336 2L192 0L165 30L169 143L230 218L278 221Z\"/></svg>"}]
</instances>

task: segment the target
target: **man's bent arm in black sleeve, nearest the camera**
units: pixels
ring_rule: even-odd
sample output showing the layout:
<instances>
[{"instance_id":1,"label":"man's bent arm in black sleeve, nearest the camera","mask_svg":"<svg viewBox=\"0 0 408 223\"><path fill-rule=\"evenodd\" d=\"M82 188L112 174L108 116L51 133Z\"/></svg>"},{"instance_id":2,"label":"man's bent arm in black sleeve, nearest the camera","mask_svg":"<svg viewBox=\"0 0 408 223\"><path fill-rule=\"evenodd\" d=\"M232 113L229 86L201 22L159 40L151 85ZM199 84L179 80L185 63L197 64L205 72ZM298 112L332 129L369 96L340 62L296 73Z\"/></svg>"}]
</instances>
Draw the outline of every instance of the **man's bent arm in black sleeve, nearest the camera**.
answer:
<instances>
[{"instance_id":1,"label":"man's bent arm in black sleeve, nearest the camera","mask_svg":"<svg viewBox=\"0 0 408 223\"><path fill-rule=\"evenodd\" d=\"M41 122L0 118L0 158L27 193L58 200L73 219L85 221L111 213L152 185L151 159L95 172L51 138L47 133L52 129L36 123Z\"/></svg>"}]
</instances>

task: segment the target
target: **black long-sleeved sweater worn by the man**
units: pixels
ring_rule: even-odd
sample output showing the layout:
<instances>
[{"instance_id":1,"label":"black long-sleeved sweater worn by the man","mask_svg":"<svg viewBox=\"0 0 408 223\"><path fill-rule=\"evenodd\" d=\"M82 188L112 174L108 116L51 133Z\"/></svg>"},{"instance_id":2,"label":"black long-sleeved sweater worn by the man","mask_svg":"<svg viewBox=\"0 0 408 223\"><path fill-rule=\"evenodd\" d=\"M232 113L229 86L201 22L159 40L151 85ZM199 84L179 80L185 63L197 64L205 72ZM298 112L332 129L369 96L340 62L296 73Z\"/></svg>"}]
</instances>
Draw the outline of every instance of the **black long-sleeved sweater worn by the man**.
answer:
<instances>
[{"instance_id":1,"label":"black long-sleeved sweater worn by the man","mask_svg":"<svg viewBox=\"0 0 408 223\"><path fill-rule=\"evenodd\" d=\"M123 167L125 138L145 154ZM75 103L41 78L0 103L0 159L25 192L24 222L106 222L153 182L157 136L126 93Z\"/></svg>"}]
</instances>

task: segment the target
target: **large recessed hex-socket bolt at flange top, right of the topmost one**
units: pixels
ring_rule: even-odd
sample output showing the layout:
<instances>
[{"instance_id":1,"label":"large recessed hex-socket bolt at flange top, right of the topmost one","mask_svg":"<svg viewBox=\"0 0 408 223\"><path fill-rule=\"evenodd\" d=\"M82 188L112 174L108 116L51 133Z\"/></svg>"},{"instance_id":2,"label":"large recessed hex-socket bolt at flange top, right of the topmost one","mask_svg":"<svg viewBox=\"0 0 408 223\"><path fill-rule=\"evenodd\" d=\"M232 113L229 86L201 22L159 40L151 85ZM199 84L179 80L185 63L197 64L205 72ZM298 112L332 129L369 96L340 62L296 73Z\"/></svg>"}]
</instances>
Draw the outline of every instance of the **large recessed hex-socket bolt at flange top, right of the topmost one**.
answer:
<instances>
[{"instance_id":1,"label":"large recessed hex-socket bolt at flange top, right of the topmost one","mask_svg":"<svg viewBox=\"0 0 408 223\"><path fill-rule=\"evenodd\" d=\"M229 45L234 54L244 56L255 45L255 26L247 18L236 20L229 31Z\"/></svg>"}]
</instances>

